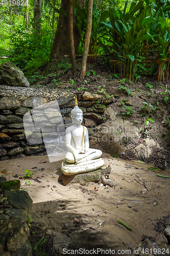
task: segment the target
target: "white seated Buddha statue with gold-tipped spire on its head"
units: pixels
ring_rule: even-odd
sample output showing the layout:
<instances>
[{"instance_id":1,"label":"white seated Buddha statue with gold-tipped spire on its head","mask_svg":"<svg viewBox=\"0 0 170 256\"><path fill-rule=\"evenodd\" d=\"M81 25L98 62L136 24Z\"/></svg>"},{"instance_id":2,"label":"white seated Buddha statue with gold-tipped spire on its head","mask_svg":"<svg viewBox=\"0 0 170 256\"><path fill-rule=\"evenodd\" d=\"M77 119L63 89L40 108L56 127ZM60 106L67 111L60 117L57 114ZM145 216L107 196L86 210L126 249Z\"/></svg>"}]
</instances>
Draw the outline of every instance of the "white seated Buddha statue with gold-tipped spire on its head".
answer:
<instances>
[{"instance_id":1,"label":"white seated Buddha statue with gold-tipped spire on its head","mask_svg":"<svg viewBox=\"0 0 170 256\"><path fill-rule=\"evenodd\" d=\"M102 151L89 148L88 130L81 125L83 112L78 107L77 99L75 107L71 110L72 125L65 131L65 142L68 152L61 170L65 175L86 173L98 169L104 165L101 157Z\"/></svg>"}]
</instances>

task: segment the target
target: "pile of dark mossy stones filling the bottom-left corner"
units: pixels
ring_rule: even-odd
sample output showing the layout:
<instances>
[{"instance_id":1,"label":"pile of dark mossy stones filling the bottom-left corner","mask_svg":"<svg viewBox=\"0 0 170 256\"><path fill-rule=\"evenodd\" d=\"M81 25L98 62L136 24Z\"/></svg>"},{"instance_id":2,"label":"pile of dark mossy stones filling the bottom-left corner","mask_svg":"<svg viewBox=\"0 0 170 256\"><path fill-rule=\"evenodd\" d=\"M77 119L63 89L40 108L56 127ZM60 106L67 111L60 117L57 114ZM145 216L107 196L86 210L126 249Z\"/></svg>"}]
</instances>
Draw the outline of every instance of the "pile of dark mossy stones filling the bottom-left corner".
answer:
<instances>
[{"instance_id":1,"label":"pile of dark mossy stones filling the bottom-left corner","mask_svg":"<svg viewBox=\"0 0 170 256\"><path fill-rule=\"evenodd\" d=\"M27 224L33 201L26 191L19 189L19 180L7 181L0 177L1 255L32 255L32 248L26 245L26 240L30 233Z\"/></svg>"}]
</instances>

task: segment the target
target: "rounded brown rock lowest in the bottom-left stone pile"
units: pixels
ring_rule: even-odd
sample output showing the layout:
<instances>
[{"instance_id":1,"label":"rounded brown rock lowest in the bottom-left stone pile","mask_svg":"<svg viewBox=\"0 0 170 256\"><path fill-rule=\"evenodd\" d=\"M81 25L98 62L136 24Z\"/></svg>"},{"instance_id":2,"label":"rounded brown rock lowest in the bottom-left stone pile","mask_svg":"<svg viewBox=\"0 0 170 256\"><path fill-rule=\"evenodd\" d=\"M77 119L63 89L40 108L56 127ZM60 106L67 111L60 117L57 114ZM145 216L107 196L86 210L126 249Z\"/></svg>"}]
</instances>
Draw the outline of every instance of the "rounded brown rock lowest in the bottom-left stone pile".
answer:
<instances>
[{"instance_id":1,"label":"rounded brown rock lowest in the bottom-left stone pile","mask_svg":"<svg viewBox=\"0 0 170 256\"><path fill-rule=\"evenodd\" d=\"M30 230L26 223L23 223L19 227L13 229L11 232L8 232L6 236L7 249L10 251L15 251L21 246L25 245L29 234Z\"/></svg>"}]
</instances>

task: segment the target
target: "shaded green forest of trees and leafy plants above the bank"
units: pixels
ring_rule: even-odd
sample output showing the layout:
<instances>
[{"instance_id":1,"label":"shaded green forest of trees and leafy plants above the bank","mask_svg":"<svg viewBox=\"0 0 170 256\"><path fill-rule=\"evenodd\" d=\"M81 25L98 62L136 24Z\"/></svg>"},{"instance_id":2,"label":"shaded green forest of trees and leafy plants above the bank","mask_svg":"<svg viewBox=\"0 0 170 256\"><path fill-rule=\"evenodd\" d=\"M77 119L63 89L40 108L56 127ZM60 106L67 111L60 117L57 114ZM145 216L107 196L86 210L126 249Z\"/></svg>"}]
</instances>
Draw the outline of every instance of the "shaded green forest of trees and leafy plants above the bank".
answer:
<instances>
[{"instance_id":1,"label":"shaded green forest of trees and leafy plants above the bank","mask_svg":"<svg viewBox=\"0 0 170 256\"><path fill-rule=\"evenodd\" d=\"M105 54L117 78L136 80L156 70L158 81L169 80L169 0L89 2L93 2L89 63L95 65L96 55ZM74 55L82 55L87 37L87 1L3 0L0 63L8 57L27 77L72 68L70 4Z\"/></svg>"}]
</instances>

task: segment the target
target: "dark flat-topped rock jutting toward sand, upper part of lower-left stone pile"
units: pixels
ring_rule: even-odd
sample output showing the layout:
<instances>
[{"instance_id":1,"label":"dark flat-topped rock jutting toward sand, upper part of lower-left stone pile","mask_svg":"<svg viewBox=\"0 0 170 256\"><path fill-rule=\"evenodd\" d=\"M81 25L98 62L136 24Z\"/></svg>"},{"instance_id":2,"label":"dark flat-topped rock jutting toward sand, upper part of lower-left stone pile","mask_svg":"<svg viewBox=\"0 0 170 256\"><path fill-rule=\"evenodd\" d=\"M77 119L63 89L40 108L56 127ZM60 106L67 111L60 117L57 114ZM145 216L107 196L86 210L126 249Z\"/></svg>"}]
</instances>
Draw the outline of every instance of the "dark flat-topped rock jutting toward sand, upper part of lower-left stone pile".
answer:
<instances>
[{"instance_id":1,"label":"dark flat-topped rock jutting toward sand, upper part of lower-left stone pile","mask_svg":"<svg viewBox=\"0 0 170 256\"><path fill-rule=\"evenodd\" d=\"M28 213L31 211L33 200L30 198L27 191L7 191L4 197L7 198L13 208L26 210Z\"/></svg>"}]
</instances>

